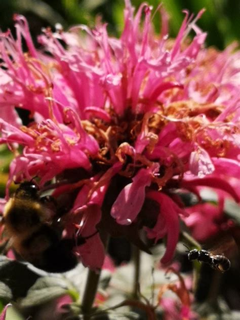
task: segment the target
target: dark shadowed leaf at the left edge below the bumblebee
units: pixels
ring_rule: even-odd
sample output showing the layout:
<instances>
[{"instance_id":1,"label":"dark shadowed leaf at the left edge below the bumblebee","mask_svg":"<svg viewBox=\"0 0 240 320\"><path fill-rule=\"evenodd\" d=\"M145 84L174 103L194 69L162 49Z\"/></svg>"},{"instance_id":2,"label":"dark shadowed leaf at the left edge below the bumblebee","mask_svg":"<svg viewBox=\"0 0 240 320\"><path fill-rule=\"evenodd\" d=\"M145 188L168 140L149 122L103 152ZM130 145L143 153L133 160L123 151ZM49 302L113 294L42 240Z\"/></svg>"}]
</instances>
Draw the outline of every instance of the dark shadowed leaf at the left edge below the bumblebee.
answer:
<instances>
[{"instance_id":1,"label":"dark shadowed leaf at the left edge below the bumblebee","mask_svg":"<svg viewBox=\"0 0 240 320\"><path fill-rule=\"evenodd\" d=\"M11 290L11 299L25 297L37 278L39 275L28 269L26 264L0 256L0 282Z\"/></svg>"}]
</instances>

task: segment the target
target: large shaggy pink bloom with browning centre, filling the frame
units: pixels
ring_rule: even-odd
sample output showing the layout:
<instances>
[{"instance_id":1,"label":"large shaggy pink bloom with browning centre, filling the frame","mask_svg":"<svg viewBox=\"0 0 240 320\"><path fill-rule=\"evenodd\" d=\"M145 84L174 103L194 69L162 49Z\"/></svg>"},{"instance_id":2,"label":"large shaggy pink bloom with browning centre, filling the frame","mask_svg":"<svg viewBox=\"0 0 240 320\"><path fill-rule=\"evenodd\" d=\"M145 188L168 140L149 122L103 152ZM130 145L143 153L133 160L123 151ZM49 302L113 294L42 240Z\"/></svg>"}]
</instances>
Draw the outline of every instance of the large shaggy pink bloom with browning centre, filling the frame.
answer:
<instances>
[{"instance_id":1,"label":"large shaggy pink bloom with browning centre, filling the frame","mask_svg":"<svg viewBox=\"0 0 240 320\"><path fill-rule=\"evenodd\" d=\"M15 155L7 197L12 181L38 177L43 190L52 181L62 236L99 231L75 250L84 265L101 267L101 233L147 252L140 233L166 237L169 262L187 215L181 192L208 186L239 201L240 53L204 48L202 13L184 12L175 39L164 13L157 35L151 7L134 15L129 0L119 38L100 22L45 29L36 50L22 16L16 39L0 35L0 141ZM29 111L26 126L16 107Z\"/></svg>"}]
</instances>

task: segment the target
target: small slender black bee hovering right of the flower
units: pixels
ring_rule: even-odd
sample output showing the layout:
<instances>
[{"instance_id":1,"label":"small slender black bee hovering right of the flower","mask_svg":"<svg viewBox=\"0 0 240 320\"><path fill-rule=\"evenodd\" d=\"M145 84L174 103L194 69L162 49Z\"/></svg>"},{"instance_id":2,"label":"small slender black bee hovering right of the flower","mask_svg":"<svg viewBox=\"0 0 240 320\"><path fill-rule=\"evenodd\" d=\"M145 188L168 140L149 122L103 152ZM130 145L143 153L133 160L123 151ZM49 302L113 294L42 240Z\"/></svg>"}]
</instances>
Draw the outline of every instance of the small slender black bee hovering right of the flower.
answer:
<instances>
[{"instance_id":1,"label":"small slender black bee hovering right of the flower","mask_svg":"<svg viewBox=\"0 0 240 320\"><path fill-rule=\"evenodd\" d=\"M187 248L188 249L188 248ZM230 260L222 255L214 255L207 250L189 250L188 249L188 259L190 261L197 260L198 262L204 262L209 264L213 269L216 269L220 272L225 272L230 269L231 262Z\"/></svg>"}]
</instances>

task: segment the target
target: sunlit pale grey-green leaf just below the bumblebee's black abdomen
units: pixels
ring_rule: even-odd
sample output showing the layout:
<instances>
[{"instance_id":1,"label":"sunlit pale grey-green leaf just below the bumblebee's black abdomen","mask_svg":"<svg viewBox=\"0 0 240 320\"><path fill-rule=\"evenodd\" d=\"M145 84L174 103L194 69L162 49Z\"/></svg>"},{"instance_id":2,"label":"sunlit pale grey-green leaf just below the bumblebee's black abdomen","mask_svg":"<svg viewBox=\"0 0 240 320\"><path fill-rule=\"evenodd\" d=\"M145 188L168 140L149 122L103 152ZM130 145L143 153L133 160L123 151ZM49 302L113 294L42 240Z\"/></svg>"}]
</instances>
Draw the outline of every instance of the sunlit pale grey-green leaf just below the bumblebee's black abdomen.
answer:
<instances>
[{"instance_id":1,"label":"sunlit pale grey-green leaf just below the bumblebee's black abdomen","mask_svg":"<svg viewBox=\"0 0 240 320\"><path fill-rule=\"evenodd\" d=\"M20 302L22 307L43 304L68 293L68 283L60 277L45 276L37 279L27 296Z\"/></svg>"}]
</instances>

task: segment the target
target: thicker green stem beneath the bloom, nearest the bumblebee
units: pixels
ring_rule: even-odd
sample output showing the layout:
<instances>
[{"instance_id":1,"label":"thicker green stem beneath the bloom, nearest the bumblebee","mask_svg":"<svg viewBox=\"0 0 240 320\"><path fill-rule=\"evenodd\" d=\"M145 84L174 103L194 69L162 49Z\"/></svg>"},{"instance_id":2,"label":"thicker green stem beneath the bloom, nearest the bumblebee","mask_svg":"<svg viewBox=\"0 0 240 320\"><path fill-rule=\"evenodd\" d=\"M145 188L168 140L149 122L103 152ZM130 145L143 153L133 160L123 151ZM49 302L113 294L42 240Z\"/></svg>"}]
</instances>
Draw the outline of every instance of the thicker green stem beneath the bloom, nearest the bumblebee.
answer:
<instances>
[{"instance_id":1,"label":"thicker green stem beneath the bloom, nearest the bumblebee","mask_svg":"<svg viewBox=\"0 0 240 320\"><path fill-rule=\"evenodd\" d=\"M106 248L107 242L108 242L107 234L101 233L101 239L102 239L103 245ZM83 300L82 300L82 312L84 315L84 320L89 320L91 317L90 313L91 313L92 306L97 293L100 275L101 275L101 270L99 270L97 273L90 269L88 271L87 283L85 286L85 291L84 291Z\"/></svg>"}]
</instances>

